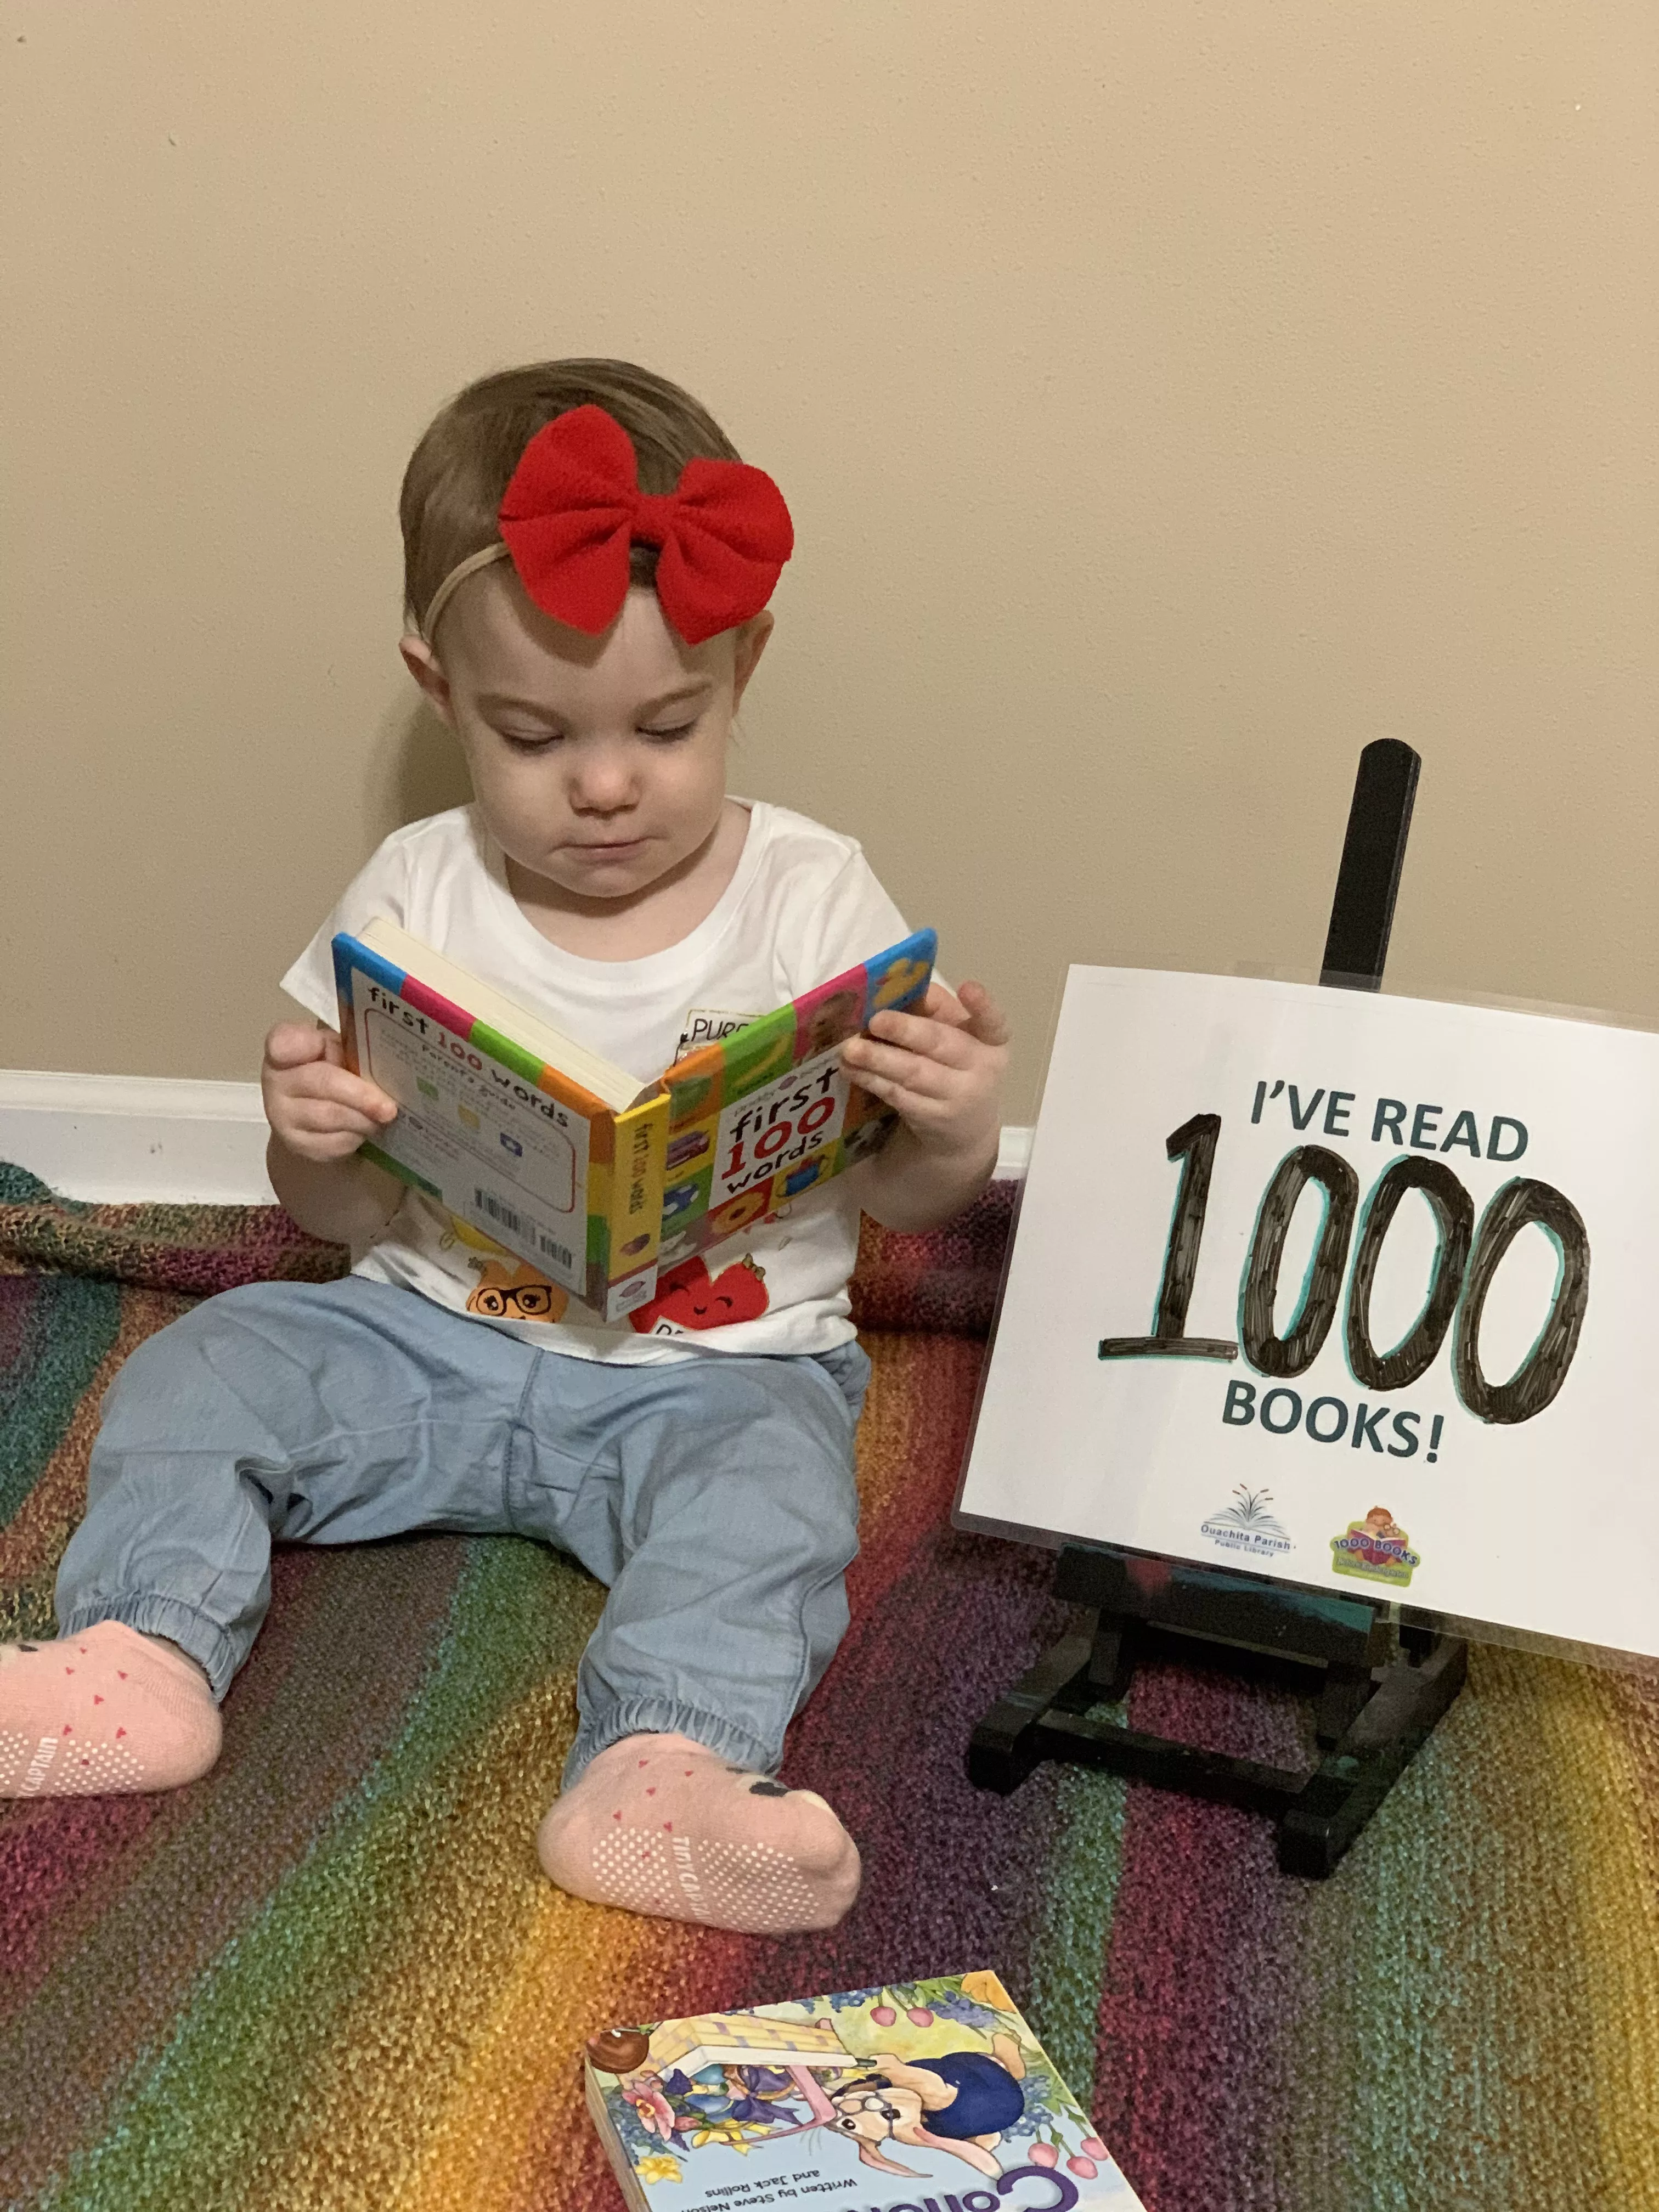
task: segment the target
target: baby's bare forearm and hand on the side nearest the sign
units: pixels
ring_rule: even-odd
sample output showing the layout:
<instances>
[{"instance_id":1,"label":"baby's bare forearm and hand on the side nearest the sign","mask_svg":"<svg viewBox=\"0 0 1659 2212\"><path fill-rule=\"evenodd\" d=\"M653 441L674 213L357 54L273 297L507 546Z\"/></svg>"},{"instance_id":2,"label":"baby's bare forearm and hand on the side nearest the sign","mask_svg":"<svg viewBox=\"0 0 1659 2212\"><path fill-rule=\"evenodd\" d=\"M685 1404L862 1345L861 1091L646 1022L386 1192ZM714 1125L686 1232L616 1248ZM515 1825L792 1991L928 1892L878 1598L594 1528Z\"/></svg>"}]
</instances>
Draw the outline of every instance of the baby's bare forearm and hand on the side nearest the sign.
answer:
<instances>
[{"instance_id":1,"label":"baby's bare forearm and hand on the side nearest the sign","mask_svg":"<svg viewBox=\"0 0 1659 2212\"><path fill-rule=\"evenodd\" d=\"M978 982L929 984L920 1013L878 1013L841 1048L847 1073L898 1108L902 1126L860 1175L858 1199L889 1230L960 1214L998 1164L1009 1024Z\"/></svg>"}]
</instances>

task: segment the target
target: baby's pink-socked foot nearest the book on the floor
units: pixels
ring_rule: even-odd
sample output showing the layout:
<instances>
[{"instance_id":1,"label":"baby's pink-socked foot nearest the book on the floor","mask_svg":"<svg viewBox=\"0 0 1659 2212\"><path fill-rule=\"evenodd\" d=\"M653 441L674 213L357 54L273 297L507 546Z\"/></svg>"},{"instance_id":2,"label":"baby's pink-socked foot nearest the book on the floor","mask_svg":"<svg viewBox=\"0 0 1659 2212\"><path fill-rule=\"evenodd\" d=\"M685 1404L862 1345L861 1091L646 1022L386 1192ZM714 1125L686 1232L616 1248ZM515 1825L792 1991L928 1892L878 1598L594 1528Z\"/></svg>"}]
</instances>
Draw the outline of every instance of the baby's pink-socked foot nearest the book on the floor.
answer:
<instances>
[{"instance_id":1,"label":"baby's pink-socked foot nearest the book on the floor","mask_svg":"<svg viewBox=\"0 0 1659 2212\"><path fill-rule=\"evenodd\" d=\"M690 1736L599 1752L553 1803L538 1849L577 1898L743 1936L832 1929L858 1896L858 1847L816 1792Z\"/></svg>"}]
</instances>

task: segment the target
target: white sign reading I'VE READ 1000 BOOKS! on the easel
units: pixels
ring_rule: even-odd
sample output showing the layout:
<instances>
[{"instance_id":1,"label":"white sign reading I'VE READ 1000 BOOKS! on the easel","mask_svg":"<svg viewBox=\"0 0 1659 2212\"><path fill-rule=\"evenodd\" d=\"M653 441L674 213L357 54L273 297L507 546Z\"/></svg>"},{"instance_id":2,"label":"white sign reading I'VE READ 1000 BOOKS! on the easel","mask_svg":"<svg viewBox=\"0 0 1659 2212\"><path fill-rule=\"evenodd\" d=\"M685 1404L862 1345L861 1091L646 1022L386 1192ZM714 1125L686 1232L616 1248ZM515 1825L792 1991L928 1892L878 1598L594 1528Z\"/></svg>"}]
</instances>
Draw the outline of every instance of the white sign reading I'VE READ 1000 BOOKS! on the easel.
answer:
<instances>
[{"instance_id":1,"label":"white sign reading I'VE READ 1000 BOOKS! on the easel","mask_svg":"<svg viewBox=\"0 0 1659 2212\"><path fill-rule=\"evenodd\" d=\"M1659 1655L1659 1037L1071 971L958 1500Z\"/></svg>"}]
</instances>

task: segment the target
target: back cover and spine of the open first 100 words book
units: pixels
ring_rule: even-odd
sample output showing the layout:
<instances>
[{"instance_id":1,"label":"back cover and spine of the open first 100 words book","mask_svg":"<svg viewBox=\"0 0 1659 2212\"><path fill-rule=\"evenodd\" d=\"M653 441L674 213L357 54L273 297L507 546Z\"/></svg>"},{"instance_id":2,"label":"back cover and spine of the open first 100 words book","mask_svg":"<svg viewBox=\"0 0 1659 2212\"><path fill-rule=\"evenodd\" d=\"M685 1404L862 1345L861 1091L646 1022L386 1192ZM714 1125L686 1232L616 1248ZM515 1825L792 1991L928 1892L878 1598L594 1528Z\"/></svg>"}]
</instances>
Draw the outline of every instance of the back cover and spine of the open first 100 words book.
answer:
<instances>
[{"instance_id":1,"label":"back cover and spine of the open first 100 words book","mask_svg":"<svg viewBox=\"0 0 1659 2212\"><path fill-rule=\"evenodd\" d=\"M398 1102L363 1157L562 1283L606 1321L657 1287L661 1095L611 1108L352 936L334 938L341 1040Z\"/></svg>"}]
</instances>

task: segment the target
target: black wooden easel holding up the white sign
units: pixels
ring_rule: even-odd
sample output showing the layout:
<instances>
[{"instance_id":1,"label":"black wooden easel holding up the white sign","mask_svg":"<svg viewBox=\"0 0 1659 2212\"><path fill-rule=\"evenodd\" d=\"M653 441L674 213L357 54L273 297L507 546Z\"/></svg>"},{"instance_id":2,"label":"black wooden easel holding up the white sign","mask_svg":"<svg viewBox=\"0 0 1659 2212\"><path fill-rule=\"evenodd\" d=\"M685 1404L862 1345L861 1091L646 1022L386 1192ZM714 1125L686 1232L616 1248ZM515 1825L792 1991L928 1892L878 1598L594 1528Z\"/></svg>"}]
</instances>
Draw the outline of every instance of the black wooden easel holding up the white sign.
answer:
<instances>
[{"instance_id":1,"label":"black wooden easel holding up the white sign","mask_svg":"<svg viewBox=\"0 0 1659 2212\"><path fill-rule=\"evenodd\" d=\"M1420 765L1398 739L1378 739L1360 754L1321 984L1383 984ZM1383 1599L1296 1590L1110 1544L1062 1546L1055 1595L1088 1606L1091 1619L1044 1652L980 1721L969 1778L1006 1794L1044 1759L1075 1759L1274 1814L1285 1874L1325 1876L1336 1867L1469 1668L1467 1644L1400 1626ZM1301 1688L1316 1699L1321 1765L1298 1774L1093 1719L1093 1705L1126 1697L1141 1659Z\"/></svg>"}]
</instances>

